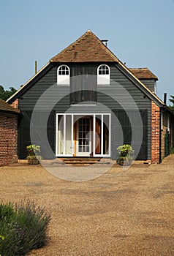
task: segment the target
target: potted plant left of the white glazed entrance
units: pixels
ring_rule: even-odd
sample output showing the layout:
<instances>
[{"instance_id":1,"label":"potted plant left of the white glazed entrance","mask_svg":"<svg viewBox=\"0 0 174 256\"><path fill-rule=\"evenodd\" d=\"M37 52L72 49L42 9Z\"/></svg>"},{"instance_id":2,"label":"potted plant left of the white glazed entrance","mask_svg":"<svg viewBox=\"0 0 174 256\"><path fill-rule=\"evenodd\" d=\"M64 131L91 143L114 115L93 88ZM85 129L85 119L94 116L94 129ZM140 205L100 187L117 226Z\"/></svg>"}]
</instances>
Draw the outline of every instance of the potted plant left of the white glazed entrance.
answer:
<instances>
[{"instance_id":1,"label":"potted plant left of the white glazed entrance","mask_svg":"<svg viewBox=\"0 0 174 256\"><path fill-rule=\"evenodd\" d=\"M28 159L29 165L38 165L40 158L40 156L38 155L38 153L40 152L40 146L29 145L26 147L26 150L28 152L28 156L26 158Z\"/></svg>"}]
</instances>

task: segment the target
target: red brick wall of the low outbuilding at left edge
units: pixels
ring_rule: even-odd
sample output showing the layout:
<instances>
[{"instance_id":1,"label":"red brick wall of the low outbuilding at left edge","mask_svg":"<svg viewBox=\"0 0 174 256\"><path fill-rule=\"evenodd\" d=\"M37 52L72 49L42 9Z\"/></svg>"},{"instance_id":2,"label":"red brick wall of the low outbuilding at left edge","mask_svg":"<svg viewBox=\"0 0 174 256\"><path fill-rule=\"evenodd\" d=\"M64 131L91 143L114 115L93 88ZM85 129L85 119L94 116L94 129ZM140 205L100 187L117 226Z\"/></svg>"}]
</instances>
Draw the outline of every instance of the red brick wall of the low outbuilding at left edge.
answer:
<instances>
[{"instance_id":1,"label":"red brick wall of the low outbuilding at left edge","mask_svg":"<svg viewBox=\"0 0 174 256\"><path fill-rule=\"evenodd\" d=\"M0 165L18 162L18 115L0 113Z\"/></svg>"}]
</instances>

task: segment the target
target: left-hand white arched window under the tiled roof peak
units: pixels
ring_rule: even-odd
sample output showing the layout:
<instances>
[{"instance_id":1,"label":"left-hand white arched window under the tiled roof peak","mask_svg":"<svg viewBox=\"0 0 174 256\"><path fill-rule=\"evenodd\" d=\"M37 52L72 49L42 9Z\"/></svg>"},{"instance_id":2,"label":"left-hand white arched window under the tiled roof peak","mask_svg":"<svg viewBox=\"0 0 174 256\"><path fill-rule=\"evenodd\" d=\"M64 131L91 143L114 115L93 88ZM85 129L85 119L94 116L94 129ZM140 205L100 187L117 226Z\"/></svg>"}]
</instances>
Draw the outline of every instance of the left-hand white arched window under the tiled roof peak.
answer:
<instances>
[{"instance_id":1,"label":"left-hand white arched window under the tiled roof peak","mask_svg":"<svg viewBox=\"0 0 174 256\"><path fill-rule=\"evenodd\" d=\"M66 65L61 65L57 69L57 84L64 84L69 86L70 69Z\"/></svg>"}]
</instances>

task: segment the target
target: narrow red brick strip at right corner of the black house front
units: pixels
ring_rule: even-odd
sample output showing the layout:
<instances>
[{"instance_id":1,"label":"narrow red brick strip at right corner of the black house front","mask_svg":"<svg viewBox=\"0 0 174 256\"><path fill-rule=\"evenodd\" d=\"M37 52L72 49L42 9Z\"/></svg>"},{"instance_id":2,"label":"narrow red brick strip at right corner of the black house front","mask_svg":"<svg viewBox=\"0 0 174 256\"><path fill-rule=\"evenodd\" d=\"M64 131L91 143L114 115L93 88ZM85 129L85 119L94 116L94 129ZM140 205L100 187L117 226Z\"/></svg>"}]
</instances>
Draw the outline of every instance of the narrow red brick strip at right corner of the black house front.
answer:
<instances>
[{"instance_id":1,"label":"narrow red brick strip at right corner of the black house front","mask_svg":"<svg viewBox=\"0 0 174 256\"><path fill-rule=\"evenodd\" d=\"M151 102L151 163L160 162L160 108Z\"/></svg>"}]
</instances>

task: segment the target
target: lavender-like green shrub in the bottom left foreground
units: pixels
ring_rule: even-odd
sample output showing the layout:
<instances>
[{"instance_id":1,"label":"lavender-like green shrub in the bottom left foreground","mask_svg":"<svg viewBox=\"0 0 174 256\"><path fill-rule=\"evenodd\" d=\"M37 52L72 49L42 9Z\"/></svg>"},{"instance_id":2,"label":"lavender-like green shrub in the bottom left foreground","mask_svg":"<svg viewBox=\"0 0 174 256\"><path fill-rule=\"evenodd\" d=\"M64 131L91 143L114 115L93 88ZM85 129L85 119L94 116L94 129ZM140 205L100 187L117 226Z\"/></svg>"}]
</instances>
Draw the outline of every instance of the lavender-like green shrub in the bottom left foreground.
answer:
<instances>
[{"instance_id":1,"label":"lavender-like green shrub in the bottom left foreground","mask_svg":"<svg viewBox=\"0 0 174 256\"><path fill-rule=\"evenodd\" d=\"M48 241L50 215L29 200L20 205L0 204L0 255L26 255Z\"/></svg>"}]
</instances>

